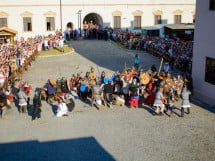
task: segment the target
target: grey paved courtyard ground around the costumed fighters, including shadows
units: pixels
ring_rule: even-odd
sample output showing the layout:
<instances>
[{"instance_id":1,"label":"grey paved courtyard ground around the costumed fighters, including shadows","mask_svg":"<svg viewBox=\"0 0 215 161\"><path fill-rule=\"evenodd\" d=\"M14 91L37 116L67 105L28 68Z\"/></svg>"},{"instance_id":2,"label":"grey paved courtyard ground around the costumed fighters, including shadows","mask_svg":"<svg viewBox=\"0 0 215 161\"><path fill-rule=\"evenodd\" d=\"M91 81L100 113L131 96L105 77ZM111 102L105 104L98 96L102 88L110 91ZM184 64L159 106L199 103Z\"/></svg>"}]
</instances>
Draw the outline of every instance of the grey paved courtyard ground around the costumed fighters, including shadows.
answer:
<instances>
[{"instance_id":1,"label":"grey paved courtyard ground around the costumed fighters, including shadows","mask_svg":"<svg viewBox=\"0 0 215 161\"><path fill-rule=\"evenodd\" d=\"M75 52L39 57L25 74L33 88L48 78L97 72L112 73L133 65L136 52L111 42L72 41ZM138 52L144 70L160 60ZM33 91L32 91L33 93ZM180 102L177 104L180 107ZM1 161L214 161L215 115L213 110L192 104L191 114L180 118L154 116L153 109L140 107L96 108L76 101L68 117L56 118L43 102L42 119L32 123L14 106L7 120L0 120Z\"/></svg>"}]
</instances>

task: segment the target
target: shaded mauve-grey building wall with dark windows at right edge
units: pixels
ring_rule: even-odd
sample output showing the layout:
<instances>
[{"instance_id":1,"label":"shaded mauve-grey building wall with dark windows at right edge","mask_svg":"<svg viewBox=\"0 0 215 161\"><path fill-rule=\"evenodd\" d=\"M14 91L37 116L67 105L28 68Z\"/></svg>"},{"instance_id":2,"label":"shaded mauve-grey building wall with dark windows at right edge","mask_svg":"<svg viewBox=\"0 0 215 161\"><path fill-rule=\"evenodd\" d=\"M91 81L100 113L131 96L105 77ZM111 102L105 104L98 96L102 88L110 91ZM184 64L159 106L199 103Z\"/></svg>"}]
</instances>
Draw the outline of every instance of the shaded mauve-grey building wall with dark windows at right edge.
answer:
<instances>
[{"instance_id":1,"label":"shaded mauve-grey building wall with dark windows at right edge","mask_svg":"<svg viewBox=\"0 0 215 161\"><path fill-rule=\"evenodd\" d=\"M215 0L197 0L194 35L194 95L215 105Z\"/></svg>"}]
</instances>

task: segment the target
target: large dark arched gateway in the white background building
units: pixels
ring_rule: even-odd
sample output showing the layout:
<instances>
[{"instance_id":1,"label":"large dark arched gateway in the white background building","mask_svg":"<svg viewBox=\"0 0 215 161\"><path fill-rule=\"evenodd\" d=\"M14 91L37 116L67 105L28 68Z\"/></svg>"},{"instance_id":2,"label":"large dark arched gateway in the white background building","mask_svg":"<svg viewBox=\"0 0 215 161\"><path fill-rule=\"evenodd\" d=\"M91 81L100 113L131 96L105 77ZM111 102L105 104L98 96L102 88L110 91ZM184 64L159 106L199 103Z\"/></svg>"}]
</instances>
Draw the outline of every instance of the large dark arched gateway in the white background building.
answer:
<instances>
[{"instance_id":1,"label":"large dark arched gateway in the white background building","mask_svg":"<svg viewBox=\"0 0 215 161\"><path fill-rule=\"evenodd\" d=\"M83 19L83 23L88 23L88 24L92 23L93 25L103 27L102 17L97 13L87 14Z\"/></svg>"}]
</instances>

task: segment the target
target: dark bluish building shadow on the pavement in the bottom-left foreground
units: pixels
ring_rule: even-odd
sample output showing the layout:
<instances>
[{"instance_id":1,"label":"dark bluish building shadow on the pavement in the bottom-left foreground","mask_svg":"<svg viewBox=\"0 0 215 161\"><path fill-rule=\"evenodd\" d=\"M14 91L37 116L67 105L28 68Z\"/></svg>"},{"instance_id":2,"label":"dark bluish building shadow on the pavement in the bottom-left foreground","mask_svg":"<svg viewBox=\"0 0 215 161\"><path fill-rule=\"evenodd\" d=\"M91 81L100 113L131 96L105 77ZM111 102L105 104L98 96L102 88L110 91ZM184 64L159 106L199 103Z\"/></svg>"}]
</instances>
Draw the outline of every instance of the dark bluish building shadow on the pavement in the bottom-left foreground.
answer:
<instances>
[{"instance_id":1,"label":"dark bluish building shadow on the pavement in the bottom-left foreground","mask_svg":"<svg viewBox=\"0 0 215 161\"><path fill-rule=\"evenodd\" d=\"M2 161L115 161L94 137L1 143Z\"/></svg>"}]
</instances>

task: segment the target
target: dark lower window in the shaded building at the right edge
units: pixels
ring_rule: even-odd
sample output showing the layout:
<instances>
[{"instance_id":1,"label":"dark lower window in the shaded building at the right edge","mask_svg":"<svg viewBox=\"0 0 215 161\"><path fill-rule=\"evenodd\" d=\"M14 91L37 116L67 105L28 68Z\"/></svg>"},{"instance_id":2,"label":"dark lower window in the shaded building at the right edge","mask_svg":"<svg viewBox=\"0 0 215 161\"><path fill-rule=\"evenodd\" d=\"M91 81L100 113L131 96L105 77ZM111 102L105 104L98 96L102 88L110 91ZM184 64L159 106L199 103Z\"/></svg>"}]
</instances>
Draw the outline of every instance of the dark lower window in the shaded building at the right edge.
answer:
<instances>
[{"instance_id":1,"label":"dark lower window in the shaded building at the right edge","mask_svg":"<svg viewBox=\"0 0 215 161\"><path fill-rule=\"evenodd\" d=\"M215 59L206 57L205 81L215 85Z\"/></svg>"}]
</instances>

